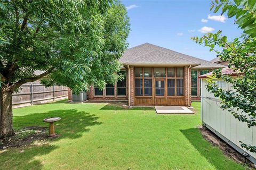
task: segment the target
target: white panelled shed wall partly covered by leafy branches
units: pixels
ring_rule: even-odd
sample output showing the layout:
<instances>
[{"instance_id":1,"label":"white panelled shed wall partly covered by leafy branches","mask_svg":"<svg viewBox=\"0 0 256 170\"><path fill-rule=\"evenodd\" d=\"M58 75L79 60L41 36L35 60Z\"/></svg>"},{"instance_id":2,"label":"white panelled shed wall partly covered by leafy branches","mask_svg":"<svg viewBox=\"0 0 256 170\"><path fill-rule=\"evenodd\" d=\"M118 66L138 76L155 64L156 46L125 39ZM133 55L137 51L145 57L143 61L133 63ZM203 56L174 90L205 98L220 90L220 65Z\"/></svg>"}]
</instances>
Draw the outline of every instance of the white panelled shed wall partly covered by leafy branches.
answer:
<instances>
[{"instance_id":1,"label":"white panelled shed wall partly covered by leafy branches","mask_svg":"<svg viewBox=\"0 0 256 170\"><path fill-rule=\"evenodd\" d=\"M256 164L256 154L241 147L242 141L246 144L256 146L256 128L248 128L246 123L239 122L228 111L220 108L220 99L205 88L206 79L201 79L201 119L203 125L217 134L222 140L229 143L231 147L241 154L248 154L247 158ZM233 90L231 84L223 80L217 80L218 86L222 89Z\"/></svg>"}]
</instances>

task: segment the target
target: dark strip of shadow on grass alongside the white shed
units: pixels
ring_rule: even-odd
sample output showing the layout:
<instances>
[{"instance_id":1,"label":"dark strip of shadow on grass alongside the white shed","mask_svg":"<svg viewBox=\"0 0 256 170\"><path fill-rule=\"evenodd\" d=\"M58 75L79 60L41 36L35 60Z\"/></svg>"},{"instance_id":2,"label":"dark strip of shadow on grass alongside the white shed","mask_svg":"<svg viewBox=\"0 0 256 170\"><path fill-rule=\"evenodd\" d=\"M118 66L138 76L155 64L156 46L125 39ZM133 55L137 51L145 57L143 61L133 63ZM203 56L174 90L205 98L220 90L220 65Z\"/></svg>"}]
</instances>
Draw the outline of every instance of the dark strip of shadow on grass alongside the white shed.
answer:
<instances>
[{"instance_id":1,"label":"dark strip of shadow on grass alongside the white shed","mask_svg":"<svg viewBox=\"0 0 256 170\"><path fill-rule=\"evenodd\" d=\"M209 163L211 163L216 169L244 169L244 166L237 168L236 162L225 157L221 150L217 147L213 147L208 141L204 140L202 134L197 128L191 128L186 130L180 130L183 135L189 140L197 151L204 156ZM234 167L234 168L233 168Z\"/></svg>"}]
</instances>

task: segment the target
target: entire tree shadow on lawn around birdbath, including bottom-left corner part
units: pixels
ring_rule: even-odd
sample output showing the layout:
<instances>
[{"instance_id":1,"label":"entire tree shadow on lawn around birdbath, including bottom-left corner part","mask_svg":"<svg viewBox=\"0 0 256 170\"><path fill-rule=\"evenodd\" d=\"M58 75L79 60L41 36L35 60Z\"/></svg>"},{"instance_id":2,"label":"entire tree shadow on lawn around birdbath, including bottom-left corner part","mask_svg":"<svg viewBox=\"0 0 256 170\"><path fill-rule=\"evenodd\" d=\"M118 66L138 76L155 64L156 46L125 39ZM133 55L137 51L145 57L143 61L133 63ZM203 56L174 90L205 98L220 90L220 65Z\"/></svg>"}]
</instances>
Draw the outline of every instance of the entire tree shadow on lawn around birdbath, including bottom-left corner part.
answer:
<instances>
[{"instance_id":1,"label":"entire tree shadow on lawn around birdbath, including bottom-left corner part","mask_svg":"<svg viewBox=\"0 0 256 170\"><path fill-rule=\"evenodd\" d=\"M60 121L55 122L55 132L60 137L49 139L49 143L41 146L9 148L7 151L0 152L0 169L42 169L42 162L35 159L35 157L47 155L57 149L57 146L51 145L51 141L58 141L65 138L79 138L82 136L82 133L90 130L90 126L101 124L101 122L97 121L98 117L93 114L78 112L77 109L63 109L46 113L33 113L26 116L14 116L13 125L15 130L28 126L48 127L49 123L42 121L46 117L61 117ZM20 150L25 151L20 152Z\"/></svg>"}]
</instances>

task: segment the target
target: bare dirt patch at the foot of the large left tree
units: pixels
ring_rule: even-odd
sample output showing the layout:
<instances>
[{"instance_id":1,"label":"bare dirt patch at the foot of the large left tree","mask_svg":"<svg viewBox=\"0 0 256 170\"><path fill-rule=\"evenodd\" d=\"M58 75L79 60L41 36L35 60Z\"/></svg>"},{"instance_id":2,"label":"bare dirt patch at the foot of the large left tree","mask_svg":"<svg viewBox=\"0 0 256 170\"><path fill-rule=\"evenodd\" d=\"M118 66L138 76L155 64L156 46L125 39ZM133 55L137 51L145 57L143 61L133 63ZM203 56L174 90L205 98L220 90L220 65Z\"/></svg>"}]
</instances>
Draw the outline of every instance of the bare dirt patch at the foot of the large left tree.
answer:
<instances>
[{"instance_id":1,"label":"bare dirt patch at the foot of the large left tree","mask_svg":"<svg viewBox=\"0 0 256 170\"><path fill-rule=\"evenodd\" d=\"M0 150L6 148L43 145L48 135L47 127L31 126L16 132L12 137L0 139Z\"/></svg>"}]
</instances>

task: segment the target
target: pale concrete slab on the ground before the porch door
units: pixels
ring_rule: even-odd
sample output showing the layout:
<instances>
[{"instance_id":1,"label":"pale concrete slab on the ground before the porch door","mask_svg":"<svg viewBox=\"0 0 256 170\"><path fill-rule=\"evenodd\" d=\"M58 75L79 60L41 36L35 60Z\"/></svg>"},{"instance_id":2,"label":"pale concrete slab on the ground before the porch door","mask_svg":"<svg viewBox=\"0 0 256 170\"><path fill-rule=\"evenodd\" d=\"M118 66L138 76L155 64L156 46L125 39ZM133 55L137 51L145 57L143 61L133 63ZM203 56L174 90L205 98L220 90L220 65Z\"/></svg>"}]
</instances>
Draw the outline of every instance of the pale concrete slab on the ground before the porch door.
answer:
<instances>
[{"instance_id":1,"label":"pale concrete slab on the ground before the porch door","mask_svg":"<svg viewBox=\"0 0 256 170\"><path fill-rule=\"evenodd\" d=\"M193 114L186 106L155 106L158 114Z\"/></svg>"}]
</instances>

